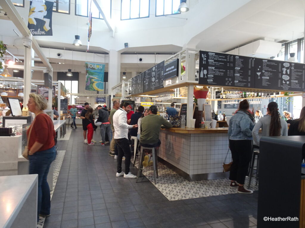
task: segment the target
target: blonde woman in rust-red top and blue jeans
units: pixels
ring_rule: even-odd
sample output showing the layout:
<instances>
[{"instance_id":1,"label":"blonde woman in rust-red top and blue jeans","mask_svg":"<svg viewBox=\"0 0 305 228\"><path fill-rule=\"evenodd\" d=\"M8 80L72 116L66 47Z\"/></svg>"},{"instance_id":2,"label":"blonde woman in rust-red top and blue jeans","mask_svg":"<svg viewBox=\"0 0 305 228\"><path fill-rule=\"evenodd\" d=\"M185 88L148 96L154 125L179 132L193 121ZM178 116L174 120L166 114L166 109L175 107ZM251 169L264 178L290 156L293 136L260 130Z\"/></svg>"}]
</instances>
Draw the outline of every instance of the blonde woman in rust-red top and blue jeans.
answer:
<instances>
[{"instance_id":1,"label":"blonde woman in rust-red top and blue jeans","mask_svg":"<svg viewBox=\"0 0 305 228\"><path fill-rule=\"evenodd\" d=\"M38 174L38 221L39 215L50 215L50 188L47 176L50 165L56 157L55 130L52 119L43 111L48 106L47 100L37 93L30 93L29 97L27 107L30 112L35 113L35 119L27 130L29 174Z\"/></svg>"}]
</instances>

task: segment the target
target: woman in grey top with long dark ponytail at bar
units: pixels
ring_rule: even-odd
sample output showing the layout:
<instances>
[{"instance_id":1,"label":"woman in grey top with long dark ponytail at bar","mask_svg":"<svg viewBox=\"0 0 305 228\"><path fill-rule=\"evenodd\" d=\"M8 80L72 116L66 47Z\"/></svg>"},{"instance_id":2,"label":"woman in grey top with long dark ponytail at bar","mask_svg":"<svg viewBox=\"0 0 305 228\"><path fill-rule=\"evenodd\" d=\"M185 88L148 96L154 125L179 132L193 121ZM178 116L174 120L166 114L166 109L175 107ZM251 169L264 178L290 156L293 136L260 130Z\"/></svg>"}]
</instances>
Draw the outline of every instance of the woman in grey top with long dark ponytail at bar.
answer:
<instances>
[{"instance_id":1,"label":"woman in grey top with long dark ponytail at bar","mask_svg":"<svg viewBox=\"0 0 305 228\"><path fill-rule=\"evenodd\" d=\"M260 118L253 128L254 144L260 145L260 137L258 136L260 128L262 128L262 136L287 136L287 123L280 118L276 102L268 104L267 113L267 116Z\"/></svg>"}]
</instances>

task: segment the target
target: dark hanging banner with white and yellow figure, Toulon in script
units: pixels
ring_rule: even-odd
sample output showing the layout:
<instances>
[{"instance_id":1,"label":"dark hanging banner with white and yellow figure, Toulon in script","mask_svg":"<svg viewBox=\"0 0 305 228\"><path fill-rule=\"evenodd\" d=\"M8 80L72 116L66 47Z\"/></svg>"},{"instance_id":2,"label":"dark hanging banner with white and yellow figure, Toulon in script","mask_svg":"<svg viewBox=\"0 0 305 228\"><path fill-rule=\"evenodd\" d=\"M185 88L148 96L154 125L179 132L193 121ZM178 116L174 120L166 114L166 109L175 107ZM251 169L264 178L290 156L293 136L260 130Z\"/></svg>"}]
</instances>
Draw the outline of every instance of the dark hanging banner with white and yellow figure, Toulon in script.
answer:
<instances>
[{"instance_id":1,"label":"dark hanging banner with white and yellow figure, Toulon in script","mask_svg":"<svg viewBox=\"0 0 305 228\"><path fill-rule=\"evenodd\" d=\"M27 27L33 36L52 36L54 2L31 1Z\"/></svg>"}]
</instances>

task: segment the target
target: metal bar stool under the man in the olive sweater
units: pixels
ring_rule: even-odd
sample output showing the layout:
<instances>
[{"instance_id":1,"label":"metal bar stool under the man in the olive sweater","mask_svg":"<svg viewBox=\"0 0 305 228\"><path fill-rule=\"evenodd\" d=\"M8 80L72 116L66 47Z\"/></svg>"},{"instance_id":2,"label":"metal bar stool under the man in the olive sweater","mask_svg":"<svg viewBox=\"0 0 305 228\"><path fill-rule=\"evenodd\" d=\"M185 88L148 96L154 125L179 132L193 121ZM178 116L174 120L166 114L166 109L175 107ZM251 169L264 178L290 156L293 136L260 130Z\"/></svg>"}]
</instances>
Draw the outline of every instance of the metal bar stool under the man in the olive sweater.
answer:
<instances>
[{"instance_id":1,"label":"metal bar stool under the man in the olive sweater","mask_svg":"<svg viewBox=\"0 0 305 228\"><path fill-rule=\"evenodd\" d=\"M145 146L151 145L152 147L144 147L143 145L145 145ZM138 183L138 179L142 175L142 170L152 170L152 169L143 169L143 161L144 161L143 150L146 149L146 150L152 150L153 176L154 176L154 179L155 179L155 184L157 184L157 179L156 178L159 178L159 175L158 175L158 164L157 164L158 160L157 160L156 147L153 147L153 146L155 146L155 144L142 144L142 143L140 143L140 146L141 146L141 150L140 150L140 159L139 159L139 167L138 167L138 174L137 174L136 183Z\"/></svg>"}]
</instances>

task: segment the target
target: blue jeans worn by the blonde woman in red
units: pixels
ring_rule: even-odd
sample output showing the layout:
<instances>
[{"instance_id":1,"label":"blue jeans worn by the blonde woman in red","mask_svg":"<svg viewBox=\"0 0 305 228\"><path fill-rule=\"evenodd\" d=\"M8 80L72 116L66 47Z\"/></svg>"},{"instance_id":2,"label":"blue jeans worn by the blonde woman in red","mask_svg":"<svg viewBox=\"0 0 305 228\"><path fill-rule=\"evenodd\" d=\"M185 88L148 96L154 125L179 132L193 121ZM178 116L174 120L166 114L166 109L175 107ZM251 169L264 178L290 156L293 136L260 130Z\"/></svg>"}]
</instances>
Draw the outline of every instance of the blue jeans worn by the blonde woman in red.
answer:
<instances>
[{"instance_id":1,"label":"blue jeans worn by the blonde woman in red","mask_svg":"<svg viewBox=\"0 0 305 228\"><path fill-rule=\"evenodd\" d=\"M37 221L39 214L49 215L51 209L50 187L47 182L48 172L52 161L55 160L56 149L52 147L29 155L29 174L38 174L38 205Z\"/></svg>"}]
</instances>

